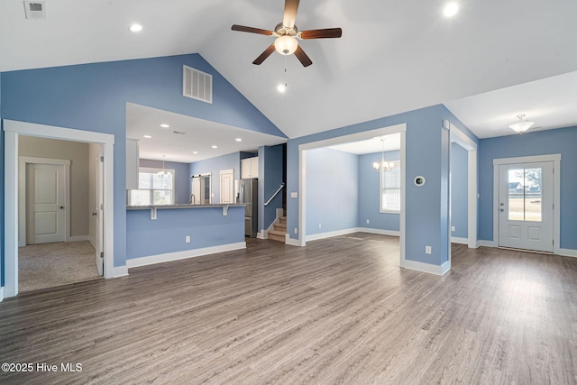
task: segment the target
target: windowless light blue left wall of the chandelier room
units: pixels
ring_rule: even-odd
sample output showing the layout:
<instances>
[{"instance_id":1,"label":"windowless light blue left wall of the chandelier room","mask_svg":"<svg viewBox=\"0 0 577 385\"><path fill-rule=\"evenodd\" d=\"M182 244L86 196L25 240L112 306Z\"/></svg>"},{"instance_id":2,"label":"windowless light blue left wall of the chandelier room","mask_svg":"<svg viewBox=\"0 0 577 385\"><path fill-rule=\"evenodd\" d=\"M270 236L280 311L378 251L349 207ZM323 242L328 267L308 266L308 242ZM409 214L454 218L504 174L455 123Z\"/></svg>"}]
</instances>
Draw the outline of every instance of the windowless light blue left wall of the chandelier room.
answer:
<instances>
[{"instance_id":1,"label":"windowless light blue left wall of the chandelier room","mask_svg":"<svg viewBox=\"0 0 577 385\"><path fill-rule=\"evenodd\" d=\"M357 155L328 148L307 151L307 235L357 227L358 170Z\"/></svg>"}]
</instances>

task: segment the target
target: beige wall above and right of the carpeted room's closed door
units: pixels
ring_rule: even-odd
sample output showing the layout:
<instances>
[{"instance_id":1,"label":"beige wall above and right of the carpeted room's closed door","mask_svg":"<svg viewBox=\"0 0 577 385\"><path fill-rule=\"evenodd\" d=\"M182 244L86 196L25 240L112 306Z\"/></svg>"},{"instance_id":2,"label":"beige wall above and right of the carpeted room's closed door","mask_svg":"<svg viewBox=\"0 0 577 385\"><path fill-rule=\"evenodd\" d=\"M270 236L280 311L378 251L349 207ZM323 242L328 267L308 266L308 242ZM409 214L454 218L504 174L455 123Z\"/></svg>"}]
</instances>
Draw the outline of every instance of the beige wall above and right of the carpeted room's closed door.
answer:
<instances>
[{"instance_id":1,"label":"beige wall above and right of the carpeted room's closed door","mask_svg":"<svg viewBox=\"0 0 577 385\"><path fill-rule=\"evenodd\" d=\"M88 235L88 144L20 136L20 156L70 160L70 236Z\"/></svg>"}]
</instances>

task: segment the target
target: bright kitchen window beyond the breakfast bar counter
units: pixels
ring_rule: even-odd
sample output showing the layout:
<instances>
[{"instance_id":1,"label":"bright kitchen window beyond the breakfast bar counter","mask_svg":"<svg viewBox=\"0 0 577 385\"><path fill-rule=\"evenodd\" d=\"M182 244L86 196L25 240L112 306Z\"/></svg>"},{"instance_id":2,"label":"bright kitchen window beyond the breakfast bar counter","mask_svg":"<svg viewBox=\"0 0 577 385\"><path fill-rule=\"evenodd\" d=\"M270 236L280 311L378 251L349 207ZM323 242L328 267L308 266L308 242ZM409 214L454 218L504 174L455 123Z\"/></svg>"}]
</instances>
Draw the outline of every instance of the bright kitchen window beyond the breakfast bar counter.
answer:
<instances>
[{"instance_id":1,"label":"bright kitchen window beyond the breakfast bar counter","mask_svg":"<svg viewBox=\"0 0 577 385\"><path fill-rule=\"evenodd\" d=\"M138 189L130 190L128 194L129 206L160 206L174 205L174 170L164 170L165 175L160 178L162 169L141 167L138 173Z\"/></svg>"}]
</instances>

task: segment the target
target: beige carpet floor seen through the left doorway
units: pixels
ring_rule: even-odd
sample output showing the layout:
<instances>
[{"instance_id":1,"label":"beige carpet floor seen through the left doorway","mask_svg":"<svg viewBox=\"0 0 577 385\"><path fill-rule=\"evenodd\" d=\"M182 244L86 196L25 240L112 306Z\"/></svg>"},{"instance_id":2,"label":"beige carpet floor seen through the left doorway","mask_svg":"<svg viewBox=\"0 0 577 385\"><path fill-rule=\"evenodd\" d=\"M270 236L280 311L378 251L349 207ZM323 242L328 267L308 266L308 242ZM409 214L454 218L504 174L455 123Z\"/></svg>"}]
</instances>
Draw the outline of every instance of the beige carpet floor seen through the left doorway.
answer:
<instances>
[{"instance_id":1,"label":"beige carpet floor seen through the left doorway","mask_svg":"<svg viewBox=\"0 0 577 385\"><path fill-rule=\"evenodd\" d=\"M18 290L54 288L100 278L87 242L32 244L18 249Z\"/></svg>"}]
</instances>

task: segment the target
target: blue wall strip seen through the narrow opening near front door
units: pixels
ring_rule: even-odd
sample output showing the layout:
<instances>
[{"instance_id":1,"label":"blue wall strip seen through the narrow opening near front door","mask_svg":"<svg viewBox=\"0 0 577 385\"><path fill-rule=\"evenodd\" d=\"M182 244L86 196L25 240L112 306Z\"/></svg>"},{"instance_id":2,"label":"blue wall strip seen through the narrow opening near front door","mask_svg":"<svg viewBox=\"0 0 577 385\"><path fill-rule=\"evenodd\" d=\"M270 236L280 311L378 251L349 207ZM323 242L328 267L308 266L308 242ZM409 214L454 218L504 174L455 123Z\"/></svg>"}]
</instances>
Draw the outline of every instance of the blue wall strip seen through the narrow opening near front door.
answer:
<instances>
[{"instance_id":1,"label":"blue wall strip seen through the narrow opening near front door","mask_svg":"<svg viewBox=\"0 0 577 385\"><path fill-rule=\"evenodd\" d=\"M468 236L468 178L469 152L457 143L451 143L451 236Z\"/></svg>"}]
</instances>

